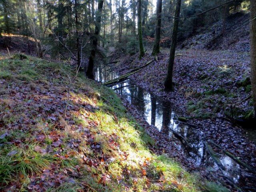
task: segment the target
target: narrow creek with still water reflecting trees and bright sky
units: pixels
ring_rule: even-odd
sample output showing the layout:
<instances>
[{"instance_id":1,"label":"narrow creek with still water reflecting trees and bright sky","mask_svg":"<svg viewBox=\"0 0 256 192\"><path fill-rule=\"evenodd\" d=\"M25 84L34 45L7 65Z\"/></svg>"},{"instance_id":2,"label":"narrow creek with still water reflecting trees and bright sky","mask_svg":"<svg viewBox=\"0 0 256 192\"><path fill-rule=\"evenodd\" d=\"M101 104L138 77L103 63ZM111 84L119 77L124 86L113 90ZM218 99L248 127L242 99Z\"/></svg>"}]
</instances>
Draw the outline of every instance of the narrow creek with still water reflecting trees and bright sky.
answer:
<instances>
[{"instance_id":1,"label":"narrow creek with still water reflecting trees and bright sky","mask_svg":"<svg viewBox=\"0 0 256 192\"><path fill-rule=\"evenodd\" d=\"M99 82L108 82L117 77L118 74L108 65L98 64L94 68L94 78ZM196 167L205 167L209 173L219 171L224 177L238 186L243 183L240 165L232 158L224 154L218 154L220 155L220 162L224 166L224 169L220 169L207 152L203 139L204 133L195 127L178 122L177 112L172 103L151 92L147 92L134 84L129 78L110 86L110 88L116 94L119 94L122 99L127 100L142 112L148 124L156 126L161 134L167 135L172 144L174 142L178 150L193 162ZM188 150L181 140L170 131L171 129L184 137L193 150Z\"/></svg>"}]
</instances>

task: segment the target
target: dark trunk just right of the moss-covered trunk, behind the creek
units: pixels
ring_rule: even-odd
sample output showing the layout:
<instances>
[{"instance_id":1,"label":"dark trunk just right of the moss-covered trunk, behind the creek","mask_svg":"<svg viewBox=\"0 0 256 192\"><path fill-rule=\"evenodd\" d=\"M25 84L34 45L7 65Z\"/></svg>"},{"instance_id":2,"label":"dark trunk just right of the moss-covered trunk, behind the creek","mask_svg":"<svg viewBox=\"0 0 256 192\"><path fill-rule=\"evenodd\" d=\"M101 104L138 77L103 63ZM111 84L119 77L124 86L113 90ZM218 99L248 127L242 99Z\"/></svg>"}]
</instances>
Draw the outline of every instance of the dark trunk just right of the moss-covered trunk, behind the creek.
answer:
<instances>
[{"instance_id":1,"label":"dark trunk just right of the moss-covered trunk, behind the creek","mask_svg":"<svg viewBox=\"0 0 256 192\"><path fill-rule=\"evenodd\" d=\"M162 0L158 0L156 4L156 33L155 33L152 56L155 56L160 52L161 13L162 13Z\"/></svg>"}]
</instances>

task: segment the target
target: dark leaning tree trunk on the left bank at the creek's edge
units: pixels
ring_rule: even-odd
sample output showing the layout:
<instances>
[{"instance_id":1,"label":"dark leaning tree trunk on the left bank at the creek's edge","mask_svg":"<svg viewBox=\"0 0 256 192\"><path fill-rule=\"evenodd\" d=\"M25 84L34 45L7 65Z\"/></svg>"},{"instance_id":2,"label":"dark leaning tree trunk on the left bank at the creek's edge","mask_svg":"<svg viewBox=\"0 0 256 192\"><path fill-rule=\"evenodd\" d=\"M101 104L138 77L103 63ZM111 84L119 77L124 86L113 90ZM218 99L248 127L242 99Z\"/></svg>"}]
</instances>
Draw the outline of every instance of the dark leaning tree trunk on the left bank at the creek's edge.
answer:
<instances>
[{"instance_id":1,"label":"dark leaning tree trunk on the left bank at the creek's edge","mask_svg":"<svg viewBox=\"0 0 256 192\"><path fill-rule=\"evenodd\" d=\"M96 50L97 50L98 36L100 34L100 22L101 22L103 2L104 2L104 0L99 0L98 10L96 12L95 30L94 30L94 36L92 36L92 51L91 51L91 55L89 58L88 69L86 72L86 76L88 76L88 78L90 78L90 79L94 79L93 66L94 66L94 58L95 58L95 54L96 54Z\"/></svg>"}]
</instances>

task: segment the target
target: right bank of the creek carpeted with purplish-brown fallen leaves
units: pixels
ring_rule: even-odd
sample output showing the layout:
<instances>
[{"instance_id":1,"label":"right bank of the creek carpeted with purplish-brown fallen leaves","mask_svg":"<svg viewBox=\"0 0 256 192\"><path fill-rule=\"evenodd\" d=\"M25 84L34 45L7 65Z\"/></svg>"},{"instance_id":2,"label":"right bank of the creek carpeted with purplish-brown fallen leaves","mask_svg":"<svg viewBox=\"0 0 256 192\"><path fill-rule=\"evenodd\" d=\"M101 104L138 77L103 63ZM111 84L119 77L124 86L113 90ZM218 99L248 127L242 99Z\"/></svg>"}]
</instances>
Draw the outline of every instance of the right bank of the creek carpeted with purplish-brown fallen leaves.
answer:
<instances>
[{"instance_id":1,"label":"right bank of the creek carpeted with purplish-brown fallen leaves","mask_svg":"<svg viewBox=\"0 0 256 192\"><path fill-rule=\"evenodd\" d=\"M115 53L112 56L114 55ZM197 129L202 132L200 137L213 140L224 150L255 168L255 131L250 130L254 129L254 125L250 124L252 98L249 53L177 50L174 92L169 93L164 92L168 59L168 50L158 54L157 61L150 53L146 53L141 60L135 54L123 57L116 69L120 74L126 74L153 60L130 78L145 90L170 100L178 109L179 116L185 117L189 124L198 125ZM244 185L250 191L255 186L247 176L248 172L244 169Z\"/></svg>"}]
</instances>

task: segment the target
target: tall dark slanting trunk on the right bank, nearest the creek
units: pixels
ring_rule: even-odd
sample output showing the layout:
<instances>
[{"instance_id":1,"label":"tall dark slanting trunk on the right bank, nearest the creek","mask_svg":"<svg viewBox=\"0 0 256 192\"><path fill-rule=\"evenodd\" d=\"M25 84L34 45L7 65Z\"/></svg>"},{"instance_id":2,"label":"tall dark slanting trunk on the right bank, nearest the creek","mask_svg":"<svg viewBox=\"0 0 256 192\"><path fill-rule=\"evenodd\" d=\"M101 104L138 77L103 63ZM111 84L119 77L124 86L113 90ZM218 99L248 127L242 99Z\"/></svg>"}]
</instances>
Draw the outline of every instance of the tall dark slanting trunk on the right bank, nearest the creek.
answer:
<instances>
[{"instance_id":1,"label":"tall dark slanting trunk on the right bank, nearest the creek","mask_svg":"<svg viewBox=\"0 0 256 192\"><path fill-rule=\"evenodd\" d=\"M173 72L173 65L174 65L174 56L175 56L175 48L177 42L177 33L178 33L178 24L179 24L179 16L180 16L180 4L181 0L177 0L176 8L175 8L175 20L172 29L172 44L170 49L170 57L168 62L168 69L166 79L164 81L164 90L165 91L172 91L172 72Z\"/></svg>"}]
</instances>

